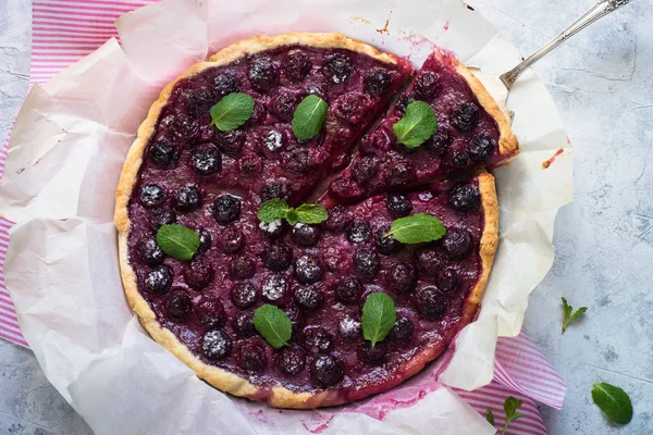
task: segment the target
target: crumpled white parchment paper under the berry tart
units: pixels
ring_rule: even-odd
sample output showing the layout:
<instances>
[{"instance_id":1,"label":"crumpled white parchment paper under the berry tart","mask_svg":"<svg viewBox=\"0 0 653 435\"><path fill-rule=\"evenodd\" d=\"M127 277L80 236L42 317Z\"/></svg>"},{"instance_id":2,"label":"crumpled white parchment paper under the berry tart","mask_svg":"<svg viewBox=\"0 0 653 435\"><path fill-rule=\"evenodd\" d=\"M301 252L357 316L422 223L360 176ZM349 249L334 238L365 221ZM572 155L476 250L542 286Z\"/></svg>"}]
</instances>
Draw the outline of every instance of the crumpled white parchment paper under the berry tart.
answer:
<instances>
[{"instance_id":1,"label":"crumpled white parchment paper under the berry tart","mask_svg":"<svg viewBox=\"0 0 653 435\"><path fill-rule=\"evenodd\" d=\"M342 32L420 65L433 44L469 65L498 100L515 49L458 0L163 0L118 21L122 47L35 86L19 115L0 189L17 224L4 277L44 372L97 434L493 434L446 387L493 375L497 336L519 333L529 293L553 263L553 224L571 199L571 149L544 86L510 91L522 153L494 171L501 238L479 319L402 386L324 411L280 411L199 380L152 341L122 293L113 192L138 124L162 85L219 48L257 34ZM542 163L564 152L546 170ZM448 364L443 361L451 361Z\"/></svg>"}]
</instances>

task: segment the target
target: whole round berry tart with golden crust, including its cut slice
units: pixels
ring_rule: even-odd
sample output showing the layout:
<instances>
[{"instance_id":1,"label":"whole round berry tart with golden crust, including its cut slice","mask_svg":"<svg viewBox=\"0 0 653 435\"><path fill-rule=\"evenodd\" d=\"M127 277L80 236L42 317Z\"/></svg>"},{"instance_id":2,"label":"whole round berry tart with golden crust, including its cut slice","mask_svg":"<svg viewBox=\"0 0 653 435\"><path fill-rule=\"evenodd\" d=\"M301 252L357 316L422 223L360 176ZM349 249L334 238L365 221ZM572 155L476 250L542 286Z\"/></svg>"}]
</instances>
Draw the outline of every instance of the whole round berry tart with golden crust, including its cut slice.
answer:
<instances>
[{"instance_id":1,"label":"whole round berry tart with golden crust, including its cut slice","mask_svg":"<svg viewBox=\"0 0 653 435\"><path fill-rule=\"evenodd\" d=\"M426 83L427 73L439 78ZM230 46L163 89L116 190L121 273L140 323L200 378L275 407L341 405L419 372L472 320L498 240L494 179L482 167L518 147L482 86L440 53L368 132L412 74L406 60L340 34L284 34ZM389 137L373 149L382 170L367 183L354 179L372 156L369 138L392 132L397 107L417 89L439 128L451 126L447 110L459 105L440 98L476 104L478 122L454 134L449 148L464 140L469 153L473 138L486 135L496 142L492 152L444 169L446 153L426 144L406 152ZM237 126L219 127L213 108L234 95L252 110ZM328 111L319 133L299 139L293 120L308 96ZM409 162L417 176L389 182L393 162ZM332 185L353 181L350 195L320 191L329 177ZM262 203L299 210L309 195L328 209L321 223L259 219ZM393 222L419 214L439 220L441 238L402 244L389 236ZM171 224L197 233L192 258L160 246L157 234ZM372 346L361 314L379 291L394 302L396 322ZM255 326L263 304L289 319L281 346Z\"/></svg>"}]
</instances>

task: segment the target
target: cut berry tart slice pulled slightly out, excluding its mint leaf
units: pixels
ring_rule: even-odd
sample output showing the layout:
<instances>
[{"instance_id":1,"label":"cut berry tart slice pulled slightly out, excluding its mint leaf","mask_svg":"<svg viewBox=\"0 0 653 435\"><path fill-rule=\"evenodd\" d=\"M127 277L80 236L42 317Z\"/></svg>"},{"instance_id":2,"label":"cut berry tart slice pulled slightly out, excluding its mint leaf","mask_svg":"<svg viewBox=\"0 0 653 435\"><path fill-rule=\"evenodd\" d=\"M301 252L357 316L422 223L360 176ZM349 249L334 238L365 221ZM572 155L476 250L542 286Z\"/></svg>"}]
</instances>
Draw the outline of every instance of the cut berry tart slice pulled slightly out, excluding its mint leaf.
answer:
<instances>
[{"instance_id":1,"label":"cut berry tart slice pulled slightly out, excluding its mint leaf","mask_svg":"<svg viewBox=\"0 0 653 435\"><path fill-rule=\"evenodd\" d=\"M411 148L397 139L394 126L414 101L428 103L438 124L433 135ZM508 120L478 78L452 54L435 51L385 120L360 140L348 167L331 182L324 202L356 202L378 192L401 191L493 167L518 152Z\"/></svg>"}]
</instances>

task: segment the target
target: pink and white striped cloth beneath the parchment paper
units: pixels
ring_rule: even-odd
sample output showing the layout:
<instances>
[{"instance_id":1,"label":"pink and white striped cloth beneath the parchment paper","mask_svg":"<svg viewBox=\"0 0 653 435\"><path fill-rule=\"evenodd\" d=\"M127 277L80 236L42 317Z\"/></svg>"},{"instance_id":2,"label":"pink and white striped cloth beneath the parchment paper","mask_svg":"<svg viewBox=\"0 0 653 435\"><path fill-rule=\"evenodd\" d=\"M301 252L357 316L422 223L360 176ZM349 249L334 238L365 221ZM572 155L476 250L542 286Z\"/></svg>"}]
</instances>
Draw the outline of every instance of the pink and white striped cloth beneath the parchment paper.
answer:
<instances>
[{"instance_id":1,"label":"pink and white striped cloth beneath the parchment paper","mask_svg":"<svg viewBox=\"0 0 653 435\"><path fill-rule=\"evenodd\" d=\"M158 0L33 0L32 83L45 84L57 73L87 55L108 38L116 37L115 18ZM120 40L120 39L119 39ZM0 150L0 174L7 145ZM9 246L11 222L0 217L0 266ZM0 274L0 338L27 347L14 306ZM508 396L523 401L525 417L510 423L507 434L543 435L546 428L535 400L559 409L566 385L537 346L525 335L500 338L494 381L478 390L456 393L482 415L491 409L495 423L505 422L503 402Z\"/></svg>"}]
</instances>

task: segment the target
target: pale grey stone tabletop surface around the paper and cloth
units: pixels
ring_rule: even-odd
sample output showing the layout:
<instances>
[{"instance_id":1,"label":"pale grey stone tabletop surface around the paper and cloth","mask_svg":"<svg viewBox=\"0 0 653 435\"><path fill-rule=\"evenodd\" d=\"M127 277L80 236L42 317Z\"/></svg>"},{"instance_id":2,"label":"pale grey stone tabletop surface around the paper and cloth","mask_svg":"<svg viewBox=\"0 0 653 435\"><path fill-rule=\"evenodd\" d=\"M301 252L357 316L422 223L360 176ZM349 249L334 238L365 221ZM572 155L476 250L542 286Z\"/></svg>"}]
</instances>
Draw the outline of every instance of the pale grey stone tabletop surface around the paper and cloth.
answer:
<instances>
[{"instance_id":1,"label":"pale grey stone tabletop surface around the paper and cloth","mask_svg":"<svg viewBox=\"0 0 653 435\"><path fill-rule=\"evenodd\" d=\"M473 0L523 53L539 48L593 0ZM0 138L26 94L29 1L0 0ZM562 411L542 408L552 434L653 433L653 13L633 4L538 63L574 144L575 200L556 221L556 261L531 297L526 331L567 381ZM559 297L586 304L562 336ZM634 419L608 424L592 405L595 382L624 387ZM0 435L86 435L34 356L0 341Z\"/></svg>"}]
</instances>

